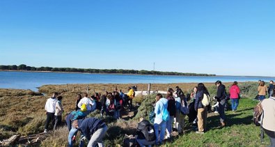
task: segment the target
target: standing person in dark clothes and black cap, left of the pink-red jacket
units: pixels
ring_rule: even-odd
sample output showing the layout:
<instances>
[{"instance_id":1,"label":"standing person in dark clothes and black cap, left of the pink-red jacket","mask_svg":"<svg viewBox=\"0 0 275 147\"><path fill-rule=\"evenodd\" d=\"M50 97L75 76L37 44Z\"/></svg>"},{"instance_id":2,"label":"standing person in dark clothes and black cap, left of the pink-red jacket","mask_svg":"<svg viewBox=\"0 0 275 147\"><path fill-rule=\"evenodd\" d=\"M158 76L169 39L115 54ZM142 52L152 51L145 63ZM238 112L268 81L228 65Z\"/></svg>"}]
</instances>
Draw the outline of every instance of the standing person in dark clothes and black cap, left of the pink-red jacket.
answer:
<instances>
[{"instance_id":1,"label":"standing person in dark clothes and black cap, left of the pink-red jacket","mask_svg":"<svg viewBox=\"0 0 275 147\"><path fill-rule=\"evenodd\" d=\"M215 82L217 86L217 96L214 98L219 102L218 112L221 121L221 126L226 126L226 114L224 112L226 106L226 86L221 84L221 81Z\"/></svg>"}]
</instances>

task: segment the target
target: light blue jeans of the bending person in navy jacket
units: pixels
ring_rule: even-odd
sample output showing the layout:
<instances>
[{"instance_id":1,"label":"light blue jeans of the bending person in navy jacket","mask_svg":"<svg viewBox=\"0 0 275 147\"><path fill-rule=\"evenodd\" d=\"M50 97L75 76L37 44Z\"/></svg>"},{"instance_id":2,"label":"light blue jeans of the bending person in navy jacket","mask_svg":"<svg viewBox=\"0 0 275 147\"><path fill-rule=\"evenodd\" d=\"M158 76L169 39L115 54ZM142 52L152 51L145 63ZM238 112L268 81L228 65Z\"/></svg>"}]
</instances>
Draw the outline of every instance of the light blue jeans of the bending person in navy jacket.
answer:
<instances>
[{"instance_id":1,"label":"light blue jeans of the bending person in navy jacket","mask_svg":"<svg viewBox=\"0 0 275 147\"><path fill-rule=\"evenodd\" d=\"M107 125L105 125L104 127L96 130L93 133L87 147L95 147L97 145L98 145L98 147L103 147L104 144L102 142L102 139L103 139L104 135L106 134L107 130L108 130Z\"/></svg>"}]
</instances>

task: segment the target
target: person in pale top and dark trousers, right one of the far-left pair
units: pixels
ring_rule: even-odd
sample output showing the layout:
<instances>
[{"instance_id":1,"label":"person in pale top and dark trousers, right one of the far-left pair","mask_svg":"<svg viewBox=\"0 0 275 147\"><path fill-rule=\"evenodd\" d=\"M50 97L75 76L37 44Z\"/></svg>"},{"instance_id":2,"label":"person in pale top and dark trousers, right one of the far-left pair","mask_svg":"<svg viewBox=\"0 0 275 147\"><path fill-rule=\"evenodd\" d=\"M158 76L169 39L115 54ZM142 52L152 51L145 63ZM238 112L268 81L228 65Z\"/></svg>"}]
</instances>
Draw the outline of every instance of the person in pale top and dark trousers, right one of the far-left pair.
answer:
<instances>
[{"instance_id":1,"label":"person in pale top and dark trousers, right one of the far-left pair","mask_svg":"<svg viewBox=\"0 0 275 147\"><path fill-rule=\"evenodd\" d=\"M58 127L58 125L61 124L61 120L62 120L62 113L63 113L63 106L62 106L62 96L58 96L57 102L56 102L56 112L54 114L54 118L55 118L55 122L54 122L54 130L56 130L56 128Z\"/></svg>"}]
</instances>

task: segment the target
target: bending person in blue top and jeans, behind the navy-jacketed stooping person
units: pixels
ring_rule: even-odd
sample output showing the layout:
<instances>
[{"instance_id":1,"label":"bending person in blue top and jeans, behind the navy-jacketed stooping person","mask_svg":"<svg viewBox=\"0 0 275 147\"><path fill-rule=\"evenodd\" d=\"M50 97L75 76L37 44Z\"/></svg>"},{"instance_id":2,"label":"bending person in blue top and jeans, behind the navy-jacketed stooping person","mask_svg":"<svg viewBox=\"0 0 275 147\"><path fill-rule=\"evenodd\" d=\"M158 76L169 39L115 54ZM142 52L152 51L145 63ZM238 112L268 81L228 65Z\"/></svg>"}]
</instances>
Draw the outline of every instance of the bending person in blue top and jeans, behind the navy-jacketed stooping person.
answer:
<instances>
[{"instance_id":1,"label":"bending person in blue top and jeans, behind the navy-jacketed stooping person","mask_svg":"<svg viewBox=\"0 0 275 147\"><path fill-rule=\"evenodd\" d=\"M66 124L68 126L69 134L68 134L68 146L72 147L75 141L75 137L77 136L77 129L72 126L72 122L74 120L84 119L89 114L87 111L86 104L81 105L81 108L77 111L71 111L69 114L65 116Z\"/></svg>"}]
</instances>

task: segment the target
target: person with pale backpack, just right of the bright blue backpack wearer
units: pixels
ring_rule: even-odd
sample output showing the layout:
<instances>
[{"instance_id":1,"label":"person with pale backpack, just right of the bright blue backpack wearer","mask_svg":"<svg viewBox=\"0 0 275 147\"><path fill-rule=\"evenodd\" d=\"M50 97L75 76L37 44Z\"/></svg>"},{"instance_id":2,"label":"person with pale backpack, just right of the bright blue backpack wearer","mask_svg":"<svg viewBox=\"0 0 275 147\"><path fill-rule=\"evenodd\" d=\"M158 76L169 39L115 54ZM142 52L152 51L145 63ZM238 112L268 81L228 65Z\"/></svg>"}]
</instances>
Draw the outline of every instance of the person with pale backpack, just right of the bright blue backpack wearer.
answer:
<instances>
[{"instance_id":1,"label":"person with pale backpack, just right of the bright blue backpack wearer","mask_svg":"<svg viewBox=\"0 0 275 147\"><path fill-rule=\"evenodd\" d=\"M184 118L186 114L182 114L180 112L180 107L182 105L182 102L184 102L184 106L187 106L187 98L180 98L176 93L175 93L175 128L178 130L179 134L183 134L184 130Z\"/></svg>"}]
</instances>

